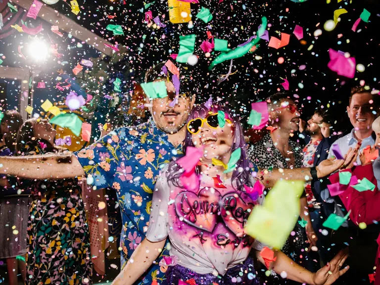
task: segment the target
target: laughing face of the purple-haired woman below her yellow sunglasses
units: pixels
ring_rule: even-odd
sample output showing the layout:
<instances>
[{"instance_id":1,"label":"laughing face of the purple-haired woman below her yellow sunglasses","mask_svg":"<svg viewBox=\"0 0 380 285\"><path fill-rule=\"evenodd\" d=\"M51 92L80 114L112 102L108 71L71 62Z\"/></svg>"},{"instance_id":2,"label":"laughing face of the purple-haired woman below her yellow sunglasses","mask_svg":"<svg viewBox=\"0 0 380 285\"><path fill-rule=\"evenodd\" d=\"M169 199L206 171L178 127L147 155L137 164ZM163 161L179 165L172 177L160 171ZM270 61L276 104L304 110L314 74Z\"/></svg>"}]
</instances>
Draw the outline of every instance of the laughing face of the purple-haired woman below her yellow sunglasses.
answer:
<instances>
[{"instance_id":1,"label":"laughing face of the purple-haired woman below her yellow sunglasses","mask_svg":"<svg viewBox=\"0 0 380 285\"><path fill-rule=\"evenodd\" d=\"M226 154L231 152L235 137L234 133L234 125L227 121L223 128L219 125L212 128L206 122L203 122L199 132L191 134L191 141L195 147L204 147L204 160L211 161L212 158L224 160L223 158Z\"/></svg>"}]
</instances>

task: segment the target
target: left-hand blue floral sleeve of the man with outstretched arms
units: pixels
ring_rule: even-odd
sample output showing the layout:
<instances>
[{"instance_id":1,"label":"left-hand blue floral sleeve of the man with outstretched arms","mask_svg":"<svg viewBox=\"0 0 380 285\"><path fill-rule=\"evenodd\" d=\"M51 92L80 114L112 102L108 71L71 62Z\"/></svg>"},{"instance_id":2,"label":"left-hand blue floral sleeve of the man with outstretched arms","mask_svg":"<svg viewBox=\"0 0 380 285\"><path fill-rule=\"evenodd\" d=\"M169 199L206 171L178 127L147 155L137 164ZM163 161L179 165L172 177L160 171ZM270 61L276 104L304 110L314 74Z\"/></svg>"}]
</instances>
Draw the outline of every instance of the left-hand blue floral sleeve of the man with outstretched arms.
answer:
<instances>
[{"instance_id":1,"label":"left-hand blue floral sleeve of the man with outstretched arms","mask_svg":"<svg viewBox=\"0 0 380 285\"><path fill-rule=\"evenodd\" d=\"M74 153L86 175L93 176L95 186L112 187L122 143L124 141L120 140L120 132L115 130Z\"/></svg>"}]
</instances>

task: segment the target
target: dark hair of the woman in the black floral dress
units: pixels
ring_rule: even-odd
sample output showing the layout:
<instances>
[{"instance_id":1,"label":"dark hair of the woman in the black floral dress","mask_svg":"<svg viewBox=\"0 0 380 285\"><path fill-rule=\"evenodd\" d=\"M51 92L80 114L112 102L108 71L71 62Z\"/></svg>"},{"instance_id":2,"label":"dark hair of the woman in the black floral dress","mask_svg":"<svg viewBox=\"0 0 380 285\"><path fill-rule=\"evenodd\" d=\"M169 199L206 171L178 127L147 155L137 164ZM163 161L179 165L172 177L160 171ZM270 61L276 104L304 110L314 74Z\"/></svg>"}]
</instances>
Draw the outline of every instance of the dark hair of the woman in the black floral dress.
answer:
<instances>
[{"instance_id":1,"label":"dark hair of the woman in the black floral dress","mask_svg":"<svg viewBox=\"0 0 380 285\"><path fill-rule=\"evenodd\" d=\"M20 131L17 135L17 142L16 142L16 155L23 155L23 152L27 148L30 148L31 145L37 145L38 142L44 142L47 145L45 152L54 152L55 148L53 145L51 145L50 142L44 139L34 139L34 128L39 123L39 119L32 118L29 120L26 120L25 123L22 125Z\"/></svg>"}]
</instances>

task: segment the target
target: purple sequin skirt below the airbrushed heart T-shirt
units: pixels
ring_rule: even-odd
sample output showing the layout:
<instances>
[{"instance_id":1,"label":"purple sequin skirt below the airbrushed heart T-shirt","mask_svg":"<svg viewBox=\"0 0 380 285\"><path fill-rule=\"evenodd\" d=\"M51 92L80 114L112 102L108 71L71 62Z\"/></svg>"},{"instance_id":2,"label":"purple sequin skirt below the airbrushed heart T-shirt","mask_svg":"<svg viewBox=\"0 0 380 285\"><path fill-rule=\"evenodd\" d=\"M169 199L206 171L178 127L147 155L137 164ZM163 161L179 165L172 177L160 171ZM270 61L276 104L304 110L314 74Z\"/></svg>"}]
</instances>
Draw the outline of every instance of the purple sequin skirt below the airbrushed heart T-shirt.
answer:
<instances>
[{"instance_id":1,"label":"purple sequin skirt below the airbrushed heart T-shirt","mask_svg":"<svg viewBox=\"0 0 380 285\"><path fill-rule=\"evenodd\" d=\"M214 276L211 273L198 274L181 265L169 266L165 273L166 280L163 284L178 285L179 281L184 282L193 279L197 285L260 285L253 266L252 258L248 257L242 264L227 270L224 276ZM191 282L189 282L191 284Z\"/></svg>"}]
</instances>

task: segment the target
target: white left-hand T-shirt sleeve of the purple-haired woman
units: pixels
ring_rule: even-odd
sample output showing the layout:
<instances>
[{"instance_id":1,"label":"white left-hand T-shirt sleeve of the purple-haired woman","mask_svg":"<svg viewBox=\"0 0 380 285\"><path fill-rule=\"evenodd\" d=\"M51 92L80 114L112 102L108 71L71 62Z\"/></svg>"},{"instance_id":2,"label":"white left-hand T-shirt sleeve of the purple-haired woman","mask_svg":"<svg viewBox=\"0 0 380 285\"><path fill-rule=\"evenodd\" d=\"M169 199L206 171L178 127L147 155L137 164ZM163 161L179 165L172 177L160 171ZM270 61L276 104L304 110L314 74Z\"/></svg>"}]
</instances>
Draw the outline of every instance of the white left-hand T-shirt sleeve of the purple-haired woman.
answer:
<instances>
[{"instance_id":1,"label":"white left-hand T-shirt sleeve of the purple-haired woman","mask_svg":"<svg viewBox=\"0 0 380 285\"><path fill-rule=\"evenodd\" d=\"M169 193L166 171L164 171L159 176L154 187L149 227L145 236L149 241L161 241L168 236L166 218L168 215Z\"/></svg>"}]
</instances>

